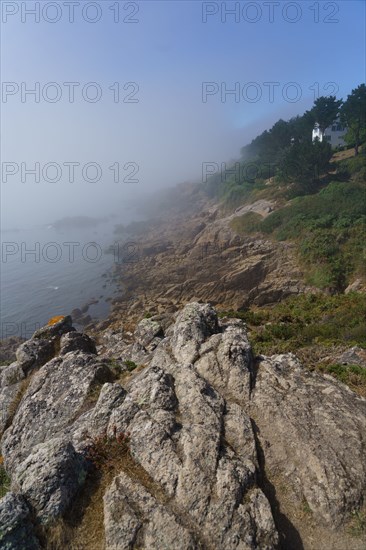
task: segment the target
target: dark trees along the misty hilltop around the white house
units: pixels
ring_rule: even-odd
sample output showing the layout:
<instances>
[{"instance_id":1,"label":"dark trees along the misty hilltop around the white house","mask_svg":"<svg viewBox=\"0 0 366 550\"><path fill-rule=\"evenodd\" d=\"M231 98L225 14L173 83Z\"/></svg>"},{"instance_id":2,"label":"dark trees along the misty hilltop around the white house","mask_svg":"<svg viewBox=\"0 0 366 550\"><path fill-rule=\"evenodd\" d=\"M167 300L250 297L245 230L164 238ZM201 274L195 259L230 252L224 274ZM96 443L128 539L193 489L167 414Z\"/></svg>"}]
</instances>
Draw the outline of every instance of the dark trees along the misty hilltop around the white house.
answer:
<instances>
[{"instance_id":1,"label":"dark trees along the misty hilltop around the white house","mask_svg":"<svg viewBox=\"0 0 366 550\"><path fill-rule=\"evenodd\" d=\"M348 127L346 142L355 148L366 141L366 86L352 90L346 101L334 96L319 97L312 109L288 121L278 120L241 149L241 157L222 173L215 173L205 184L205 192L222 201L224 209L233 210L253 200L273 176L277 189L290 191L288 198L314 193L324 185L331 166L332 149L328 142L312 142L312 129L320 130L340 117ZM290 188L284 184L290 183ZM300 184L300 185L299 185ZM273 190L272 190L273 191ZM284 189L282 189L282 192Z\"/></svg>"}]
</instances>

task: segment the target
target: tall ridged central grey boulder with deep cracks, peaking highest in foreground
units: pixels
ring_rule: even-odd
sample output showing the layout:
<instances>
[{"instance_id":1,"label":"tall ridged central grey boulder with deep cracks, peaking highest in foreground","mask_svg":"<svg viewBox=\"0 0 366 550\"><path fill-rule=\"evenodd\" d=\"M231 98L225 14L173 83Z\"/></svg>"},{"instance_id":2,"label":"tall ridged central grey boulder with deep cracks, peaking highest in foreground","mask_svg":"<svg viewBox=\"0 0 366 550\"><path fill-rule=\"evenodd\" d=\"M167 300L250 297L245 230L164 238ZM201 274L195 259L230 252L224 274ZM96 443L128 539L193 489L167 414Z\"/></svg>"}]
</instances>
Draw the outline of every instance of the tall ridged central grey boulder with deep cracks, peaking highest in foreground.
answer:
<instances>
[{"instance_id":1,"label":"tall ridged central grey boulder with deep cracks, peaking highest in foreground","mask_svg":"<svg viewBox=\"0 0 366 550\"><path fill-rule=\"evenodd\" d=\"M124 474L113 481L104 497L107 548L128 548L137 540L157 549L274 549L278 535L256 483L250 418L220 394L220 388L233 390L233 370L242 377L241 399L248 399L251 355L244 326L219 326L210 306L194 303L170 334L110 417L108 433L130 433L131 457L151 482L146 488ZM223 358L220 376L212 377L217 388L199 372L210 352L218 354L216 361Z\"/></svg>"}]
</instances>

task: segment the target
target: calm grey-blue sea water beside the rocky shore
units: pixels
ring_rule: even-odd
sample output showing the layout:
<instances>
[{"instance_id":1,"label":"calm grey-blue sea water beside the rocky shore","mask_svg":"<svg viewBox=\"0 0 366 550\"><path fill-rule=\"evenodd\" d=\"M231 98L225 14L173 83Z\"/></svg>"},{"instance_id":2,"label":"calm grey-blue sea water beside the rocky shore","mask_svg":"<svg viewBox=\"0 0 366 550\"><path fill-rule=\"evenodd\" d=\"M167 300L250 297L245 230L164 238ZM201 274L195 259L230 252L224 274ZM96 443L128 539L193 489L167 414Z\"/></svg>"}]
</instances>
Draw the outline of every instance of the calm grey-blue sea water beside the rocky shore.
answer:
<instances>
[{"instance_id":1,"label":"calm grey-blue sea water beside the rocky shore","mask_svg":"<svg viewBox=\"0 0 366 550\"><path fill-rule=\"evenodd\" d=\"M92 229L48 226L4 231L0 338L29 338L51 317L67 315L92 299L98 303L87 314L107 317L107 300L118 290L111 277L118 258L106 253L115 241L115 223L103 222Z\"/></svg>"}]
</instances>

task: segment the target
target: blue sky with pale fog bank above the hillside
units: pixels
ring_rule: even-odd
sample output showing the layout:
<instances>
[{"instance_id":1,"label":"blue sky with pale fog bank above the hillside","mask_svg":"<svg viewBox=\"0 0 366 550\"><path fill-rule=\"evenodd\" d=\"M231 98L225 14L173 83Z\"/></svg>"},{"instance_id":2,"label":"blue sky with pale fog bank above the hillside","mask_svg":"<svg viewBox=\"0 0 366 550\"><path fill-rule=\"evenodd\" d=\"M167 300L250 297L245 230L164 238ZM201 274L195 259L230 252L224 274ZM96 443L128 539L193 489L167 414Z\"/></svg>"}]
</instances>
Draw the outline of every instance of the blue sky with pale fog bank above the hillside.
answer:
<instances>
[{"instance_id":1,"label":"blue sky with pale fog bank above the hillside","mask_svg":"<svg viewBox=\"0 0 366 550\"><path fill-rule=\"evenodd\" d=\"M1 9L5 228L123 218L131 199L200 181L203 163L237 158L279 118L365 81L362 1Z\"/></svg>"}]
</instances>

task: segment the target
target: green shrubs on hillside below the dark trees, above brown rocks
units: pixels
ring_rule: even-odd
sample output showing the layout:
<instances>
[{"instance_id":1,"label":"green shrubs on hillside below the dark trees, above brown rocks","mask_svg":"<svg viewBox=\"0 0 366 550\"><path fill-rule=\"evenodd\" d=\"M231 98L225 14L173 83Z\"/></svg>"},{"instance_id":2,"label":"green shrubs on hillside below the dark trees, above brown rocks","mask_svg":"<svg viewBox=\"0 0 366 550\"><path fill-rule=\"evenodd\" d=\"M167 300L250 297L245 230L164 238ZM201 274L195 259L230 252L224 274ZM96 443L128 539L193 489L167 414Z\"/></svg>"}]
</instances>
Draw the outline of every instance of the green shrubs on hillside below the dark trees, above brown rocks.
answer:
<instances>
[{"instance_id":1,"label":"green shrubs on hillside below the dark trees, above brown rocks","mask_svg":"<svg viewBox=\"0 0 366 550\"><path fill-rule=\"evenodd\" d=\"M350 163L348 167L351 170ZM366 167L366 157L357 162L359 167ZM351 275L362 275L365 222L365 185L332 182L316 195L295 198L263 221L247 213L234 218L231 226L238 233L259 231L277 240L298 242L309 284L339 292Z\"/></svg>"}]
</instances>

